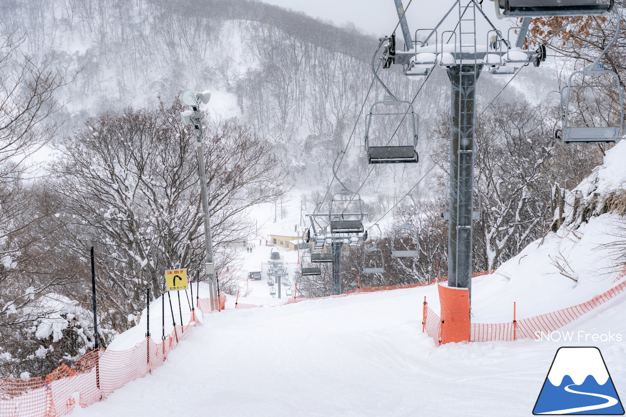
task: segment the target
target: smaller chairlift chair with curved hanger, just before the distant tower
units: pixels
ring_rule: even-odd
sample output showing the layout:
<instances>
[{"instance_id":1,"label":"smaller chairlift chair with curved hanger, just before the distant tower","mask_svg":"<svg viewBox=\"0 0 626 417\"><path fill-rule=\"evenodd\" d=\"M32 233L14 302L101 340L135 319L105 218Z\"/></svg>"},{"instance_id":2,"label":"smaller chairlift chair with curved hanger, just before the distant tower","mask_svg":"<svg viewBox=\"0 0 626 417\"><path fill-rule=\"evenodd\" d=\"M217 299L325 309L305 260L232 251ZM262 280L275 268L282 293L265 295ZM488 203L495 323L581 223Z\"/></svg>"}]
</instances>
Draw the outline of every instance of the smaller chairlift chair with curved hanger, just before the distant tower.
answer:
<instances>
[{"instance_id":1,"label":"smaller chairlift chair with curved hanger, just before the distant tower","mask_svg":"<svg viewBox=\"0 0 626 417\"><path fill-rule=\"evenodd\" d=\"M335 193L329 202L329 224L331 233L358 234L363 232L363 217L365 215L364 203L358 193L349 191L344 183L339 180L336 172L337 160L344 152L339 152L332 164L332 174L343 190Z\"/></svg>"}]
</instances>

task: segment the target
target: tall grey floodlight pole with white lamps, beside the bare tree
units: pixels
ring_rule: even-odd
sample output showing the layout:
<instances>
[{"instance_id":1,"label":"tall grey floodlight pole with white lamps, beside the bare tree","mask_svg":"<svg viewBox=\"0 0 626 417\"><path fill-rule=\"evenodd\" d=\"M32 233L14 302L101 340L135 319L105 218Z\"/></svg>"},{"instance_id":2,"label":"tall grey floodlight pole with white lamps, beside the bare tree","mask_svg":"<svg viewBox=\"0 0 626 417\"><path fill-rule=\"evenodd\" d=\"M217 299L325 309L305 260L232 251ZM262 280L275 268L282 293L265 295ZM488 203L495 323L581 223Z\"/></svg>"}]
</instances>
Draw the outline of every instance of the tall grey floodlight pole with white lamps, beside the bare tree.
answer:
<instances>
[{"instance_id":1,"label":"tall grey floodlight pole with white lamps, beside the bare tree","mask_svg":"<svg viewBox=\"0 0 626 417\"><path fill-rule=\"evenodd\" d=\"M198 173L200 174L200 197L202 199L202 213L204 219L204 237L207 251L206 271L209 279L209 297L211 300L211 311L219 311L220 302L217 294L217 283L215 281L215 266L213 264L213 240L211 239L211 218L208 212L208 193L207 193L207 174L204 164L204 149L202 146L202 124L200 123L200 98L197 98L195 104L192 105L193 115L190 120L196 134L196 146L198 155Z\"/></svg>"}]
</instances>

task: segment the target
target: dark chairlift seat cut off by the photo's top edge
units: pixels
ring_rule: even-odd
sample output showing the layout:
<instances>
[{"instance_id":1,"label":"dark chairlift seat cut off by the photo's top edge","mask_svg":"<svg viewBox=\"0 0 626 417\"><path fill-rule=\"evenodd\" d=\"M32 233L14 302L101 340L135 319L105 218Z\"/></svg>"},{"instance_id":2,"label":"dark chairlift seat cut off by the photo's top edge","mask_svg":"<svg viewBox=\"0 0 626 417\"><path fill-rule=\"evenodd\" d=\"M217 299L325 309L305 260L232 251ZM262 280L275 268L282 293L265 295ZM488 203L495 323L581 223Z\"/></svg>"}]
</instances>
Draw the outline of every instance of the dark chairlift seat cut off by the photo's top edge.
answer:
<instances>
[{"instance_id":1,"label":"dark chairlift seat cut off by the photo's top edge","mask_svg":"<svg viewBox=\"0 0 626 417\"><path fill-rule=\"evenodd\" d=\"M613 9L614 0L491 0L498 19L541 16L603 16Z\"/></svg>"}]
</instances>

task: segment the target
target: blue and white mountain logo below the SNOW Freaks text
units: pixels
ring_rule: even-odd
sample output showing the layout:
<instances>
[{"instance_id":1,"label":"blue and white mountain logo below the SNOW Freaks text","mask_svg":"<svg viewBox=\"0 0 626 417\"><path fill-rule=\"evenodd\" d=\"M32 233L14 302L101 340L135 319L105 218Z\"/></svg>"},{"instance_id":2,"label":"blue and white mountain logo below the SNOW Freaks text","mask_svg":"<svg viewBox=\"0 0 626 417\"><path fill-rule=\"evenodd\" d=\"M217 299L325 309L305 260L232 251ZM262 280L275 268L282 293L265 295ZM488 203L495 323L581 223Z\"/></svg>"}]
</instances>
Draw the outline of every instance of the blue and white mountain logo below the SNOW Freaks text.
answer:
<instances>
[{"instance_id":1,"label":"blue and white mountain logo below the SNOW Freaks text","mask_svg":"<svg viewBox=\"0 0 626 417\"><path fill-rule=\"evenodd\" d=\"M533 414L624 414L600 349L559 348Z\"/></svg>"}]
</instances>

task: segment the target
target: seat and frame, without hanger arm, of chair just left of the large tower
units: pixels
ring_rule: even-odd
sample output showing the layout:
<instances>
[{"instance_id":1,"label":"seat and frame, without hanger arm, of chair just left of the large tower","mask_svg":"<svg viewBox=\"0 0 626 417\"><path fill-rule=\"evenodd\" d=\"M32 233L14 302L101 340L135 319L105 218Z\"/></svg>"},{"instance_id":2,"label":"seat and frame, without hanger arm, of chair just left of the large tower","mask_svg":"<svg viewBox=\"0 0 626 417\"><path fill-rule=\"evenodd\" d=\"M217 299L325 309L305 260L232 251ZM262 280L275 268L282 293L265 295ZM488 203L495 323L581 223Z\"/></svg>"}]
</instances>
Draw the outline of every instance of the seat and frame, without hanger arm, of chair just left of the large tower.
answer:
<instances>
[{"instance_id":1,"label":"seat and frame, without hanger arm, of chair just left of the large tower","mask_svg":"<svg viewBox=\"0 0 626 417\"><path fill-rule=\"evenodd\" d=\"M387 110L387 106L406 105L406 111ZM378 110L381 106L385 106L384 110ZM391 131L391 137L376 138L376 142L372 145L372 119L376 120L389 116L402 116L401 122L409 123L409 137L398 138L398 145L389 145L396 136L397 131ZM399 118L399 117L398 117ZM394 100L393 97L386 96L382 101L376 101L369 109L369 113L365 116L365 151L367 152L367 163L414 163L418 162L418 116L413 110L413 105L409 101ZM398 136L402 133L398 133ZM379 135L375 135L379 136ZM387 142L384 142L387 141Z\"/></svg>"}]
</instances>

